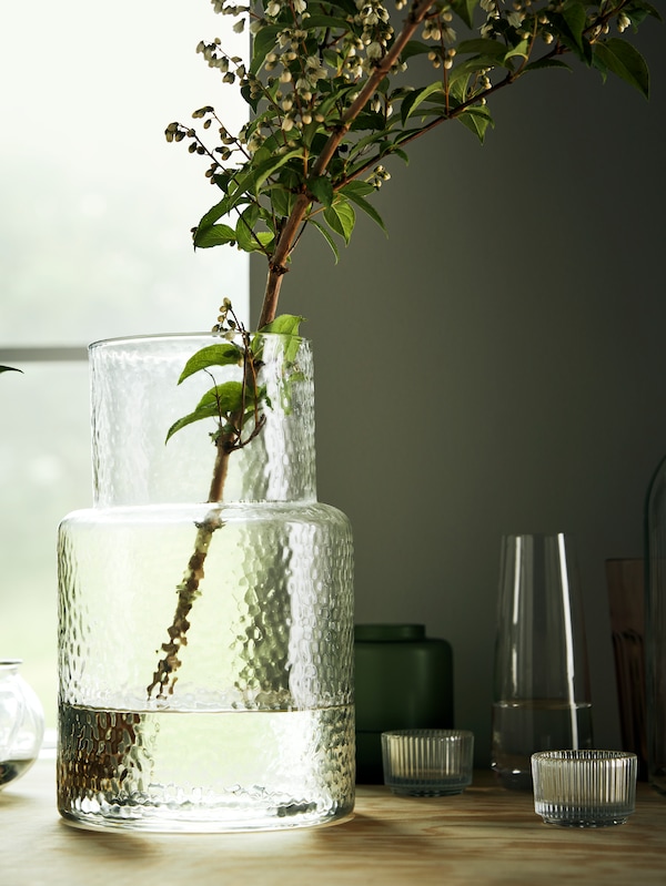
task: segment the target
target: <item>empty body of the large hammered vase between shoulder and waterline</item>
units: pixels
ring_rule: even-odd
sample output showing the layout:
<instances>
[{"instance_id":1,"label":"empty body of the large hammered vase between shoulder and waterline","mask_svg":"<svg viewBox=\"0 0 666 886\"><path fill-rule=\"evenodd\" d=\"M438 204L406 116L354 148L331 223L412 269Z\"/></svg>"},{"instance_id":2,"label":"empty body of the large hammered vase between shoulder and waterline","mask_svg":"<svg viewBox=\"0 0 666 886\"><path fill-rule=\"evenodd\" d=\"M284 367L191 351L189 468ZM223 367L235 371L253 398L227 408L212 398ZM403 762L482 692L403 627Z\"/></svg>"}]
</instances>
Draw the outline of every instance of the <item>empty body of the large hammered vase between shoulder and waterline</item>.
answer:
<instances>
[{"instance_id":1,"label":"empty body of the large hammered vase between shoulder and waterline","mask_svg":"<svg viewBox=\"0 0 666 886\"><path fill-rule=\"evenodd\" d=\"M61 701L142 709L210 506L74 511L60 528ZM180 710L350 704L352 537L319 502L233 505L190 617Z\"/></svg>"}]
</instances>

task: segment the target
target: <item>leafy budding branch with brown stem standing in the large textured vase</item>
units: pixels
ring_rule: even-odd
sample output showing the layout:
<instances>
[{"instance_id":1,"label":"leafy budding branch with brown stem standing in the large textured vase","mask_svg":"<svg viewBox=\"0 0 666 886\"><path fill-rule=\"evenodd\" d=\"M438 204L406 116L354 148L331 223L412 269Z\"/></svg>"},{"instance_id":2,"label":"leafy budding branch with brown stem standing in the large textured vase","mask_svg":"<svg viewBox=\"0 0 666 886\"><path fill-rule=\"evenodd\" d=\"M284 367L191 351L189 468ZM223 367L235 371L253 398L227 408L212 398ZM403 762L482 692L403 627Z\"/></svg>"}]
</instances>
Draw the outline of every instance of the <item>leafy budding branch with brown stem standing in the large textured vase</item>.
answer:
<instances>
[{"instance_id":1,"label":"leafy budding branch with brown stem standing in the large textured vase","mask_svg":"<svg viewBox=\"0 0 666 886\"><path fill-rule=\"evenodd\" d=\"M271 7L275 9L269 11ZM354 224L352 202L361 205L382 224L376 211L363 196L372 192L372 184L360 180L383 157L392 153L404 154L404 145L448 120L461 119L483 140L486 126L492 123L483 108L486 101L528 70L554 64L556 57L565 53L573 52L588 67L596 65L602 75L610 71L647 94L647 69L639 53L622 39L606 40L605 35L613 19L617 19L622 33L632 24L630 17L637 22L647 16L659 18L648 0L620 0L615 4L591 0L588 6L578 0L563 0L556 4L543 2L541 10L532 0L516 0L511 10L500 2L491 7L484 3L486 20L481 29L481 39L467 41L465 48L461 44L462 52L472 55L462 63L463 67L454 68L455 51L446 48L455 40L448 22L455 12L466 27L474 29L472 17L476 7L476 0L451 0L451 6L445 0L413 0L396 34L387 24L389 13L381 0L365 0L362 6L356 3L357 13L350 10L346 0L331 4L312 0L316 21L311 19L310 23L307 19L311 13L293 0L272 0L265 9L259 8L259 16L250 4L245 11L254 20L255 45L249 75L245 75L240 60L219 58L219 41L200 44L200 51L204 52L209 64L223 70L225 82L234 81L235 75L230 72L229 65L236 64L236 75L245 90L243 98L255 113L255 118L243 126L235 139L229 135L215 115L224 145L221 149L222 157L231 155L226 146L233 143L233 151L242 154L243 162L233 170L223 167L199 136L180 124L170 124L167 138L169 141L194 138L194 152L203 153L212 161L208 177L224 193L223 200L203 216L194 230L195 245L208 247L226 243L246 252L262 252L268 258L265 295L258 324L260 329L275 318L289 261L309 222L313 222L324 234L336 256L337 249L331 235L320 221L315 221L320 213L323 213L329 227L342 235L345 242L349 242ZM596 14L591 18L595 7ZM243 9L230 2L228 7L221 3L216 11L239 16ZM373 14L374 22L371 21ZM424 33L420 42L413 38L421 24L424 24ZM539 39L553 45L532 61ZM594 50L595 43L602 44L597 52ZM289 52L283 52L286 44ZM363 61L357 63L354 59L356 49L364 53ZM403 53L406 60L423 52L428 52L435 61L441 59L444 64L441 82L426 84L412 92L403 89L389 92L391 75L403 65ZM329 67L327 72L324 71L324 62ZM266 75L264 82L259 78L258 72L262 68L268 72L278 64L282 65L279 79ZM310 77L312 69L317 67L322 72ZM450 71L450 68L453 70ZM501 69L506 69L506 73L500 74L495 83L491 82L490 74ZM331 71L334 73L331 74ZM319 86L320 79L326 81L325 88ZM283 82L293 90L290 93L285 88L286 99L281 88ZM305 82L306 86L299 86L300 82ZM375 96L380 101L371 104L371 113L366 118L361 118ZM258 113L261 101L265 105ZM347 105L347 102L351 103ZM401 106L402 128L401 121L389 120L393 102ZM383 108L383 114L379 113L377 105ZM422 124L410 129L420 105ZM290 110L292 108L293 111ZM214 114L213 109L206 106L195 112L194 116L211 112ZM433 115L433 119L423 123L426 115ZM210 120L206 120L204 128L209 126ZM262 128L269 130L268 139L262 134ZM355 141L356 133L353 130L363 133ZM266 146L262 149L264 142ZM347 149L351 150L345 153ZM218 172L220 167L222 173ZM381 176L376 166L375 173L379 186ZM351 190L354 183L356 190ZM218 224L232 210L238 215L235 230ZM346 221L344 211L347 212ZM258 233L256 224L265 224L268 234L261 228ZM248 355L251 353L249 339L244 342L244 353ZM245 393L249 385L252 385L255 395L254 431L243 439L242 422L246 415ZM242 408L225 415L225 424L221 421L215 437L216 456L209 491L211 503L222 499L231 454L250 442L261 430L255 367L246 361L242 388ZM210 408L210 401L206 408ZM222 411L220 408L221 419ZM198 527L194 552L183 582L178 588L179 603L169 629L169 641L162 646L165 654L153 675L149 695L158 686L159 696L163 696L164 690L173 691L174 672L180 666L179 650L186 643L188 614L199 593L211 537L220 526L219 509L213 509Z\"/></svg>"}]
</instances>

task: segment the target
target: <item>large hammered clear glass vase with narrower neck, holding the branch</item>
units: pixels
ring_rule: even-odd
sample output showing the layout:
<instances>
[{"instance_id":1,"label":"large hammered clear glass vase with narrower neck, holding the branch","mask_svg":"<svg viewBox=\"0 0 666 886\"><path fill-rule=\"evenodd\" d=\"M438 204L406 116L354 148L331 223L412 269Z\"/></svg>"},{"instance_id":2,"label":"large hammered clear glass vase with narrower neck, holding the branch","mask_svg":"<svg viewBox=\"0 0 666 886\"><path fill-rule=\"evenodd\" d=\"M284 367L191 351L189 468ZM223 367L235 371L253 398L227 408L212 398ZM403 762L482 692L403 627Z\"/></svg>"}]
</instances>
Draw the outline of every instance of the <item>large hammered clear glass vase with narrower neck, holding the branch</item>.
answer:
<instances>
[{"instance_id":1,"label":"large hammered clear glass vase with narrower neck, holding the branch","mask_svg":"<svg viewBox=\"0 0 666 886\"><path fill-rule=\"evenodd\" d=\"M91 346L94 507L59 533L58 798L149 831L289 828L354 803L353 566L315 493L309 343L253 337L259 431L211 500L215 421L174 420L216 336ZM241 343L242 344L242 343Z\"/></svg>"}]
</instances>

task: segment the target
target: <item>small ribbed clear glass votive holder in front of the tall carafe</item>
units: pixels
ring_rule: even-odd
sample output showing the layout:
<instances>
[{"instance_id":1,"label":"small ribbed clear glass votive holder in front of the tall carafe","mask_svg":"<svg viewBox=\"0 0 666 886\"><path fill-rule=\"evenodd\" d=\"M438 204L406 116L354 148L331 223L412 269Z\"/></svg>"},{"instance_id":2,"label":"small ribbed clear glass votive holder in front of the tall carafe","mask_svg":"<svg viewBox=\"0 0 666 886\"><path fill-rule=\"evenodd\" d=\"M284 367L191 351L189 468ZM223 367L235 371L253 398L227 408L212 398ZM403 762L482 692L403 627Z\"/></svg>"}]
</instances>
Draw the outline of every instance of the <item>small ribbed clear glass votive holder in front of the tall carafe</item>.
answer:
<instances>
[{"instance_id":1,"label":"small ribbed clear glass votive holder in front of the tall carafe","mask_svg":"<svg viewBox=\"0 0 666 886\"><path fill-rule=\"evenodd\" d=\"M541 751L532 755L534 811L546 824L607 827L636 806L636 754L625 751Z\"/></svg>"}]
</instances>

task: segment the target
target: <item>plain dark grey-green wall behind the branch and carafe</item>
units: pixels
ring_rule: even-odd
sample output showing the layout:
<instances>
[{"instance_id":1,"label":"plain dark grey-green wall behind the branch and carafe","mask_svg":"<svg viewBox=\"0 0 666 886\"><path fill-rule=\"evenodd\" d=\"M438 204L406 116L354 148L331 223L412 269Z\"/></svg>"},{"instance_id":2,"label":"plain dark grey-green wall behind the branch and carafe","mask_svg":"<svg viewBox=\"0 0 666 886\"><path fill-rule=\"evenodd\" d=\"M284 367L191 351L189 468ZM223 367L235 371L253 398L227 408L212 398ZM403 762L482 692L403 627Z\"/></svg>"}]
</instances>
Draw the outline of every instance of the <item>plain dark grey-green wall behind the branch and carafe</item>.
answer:
<instances>
[{"instance_id":1,"label":"plain dark grey-green wall behind the branch and carafe","mask_svg":"<svg viewBox=\"0 0 666 886\"><path fill-rule=\"evenodd\" d=\"M281 309L316 359L320 499L351 518L357 621L416 621L454 646L456 724L490 757L500 539L575 537L596 744L619 742L604 561L642 554L666 452L659 24L647 103L596 72L496 96L486 144L414 144L334 266L315 232ZM264 267L252 265L256 317Z\"/></svg>"}]
</instances>

